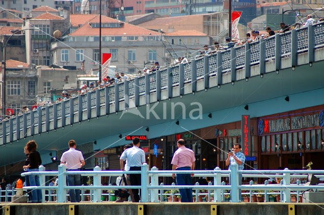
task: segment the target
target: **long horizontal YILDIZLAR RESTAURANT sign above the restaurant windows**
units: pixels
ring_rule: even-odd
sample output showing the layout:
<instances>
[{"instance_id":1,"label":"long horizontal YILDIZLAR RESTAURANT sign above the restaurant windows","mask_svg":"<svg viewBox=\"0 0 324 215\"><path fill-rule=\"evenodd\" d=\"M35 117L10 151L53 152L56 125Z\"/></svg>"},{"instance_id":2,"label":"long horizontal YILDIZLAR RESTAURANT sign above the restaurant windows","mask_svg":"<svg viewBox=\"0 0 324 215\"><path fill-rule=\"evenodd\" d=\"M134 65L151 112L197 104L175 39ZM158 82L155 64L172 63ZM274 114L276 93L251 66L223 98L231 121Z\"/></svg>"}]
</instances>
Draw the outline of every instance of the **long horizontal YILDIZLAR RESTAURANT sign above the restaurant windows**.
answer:
<instances>
[{"instance_id":1,"label":"long horizontal YILDIZLAR RESTAURANT sign above the restaurant windows","mask_svg":"<svg viewBox=\"0 0 324 215\"><path fill-rule=\"evenodd\" d=\"M280 134L287 131L301 131L324 126L323 111L314 111L258 120L258 134Z\"/></svg>"}]
</instances>

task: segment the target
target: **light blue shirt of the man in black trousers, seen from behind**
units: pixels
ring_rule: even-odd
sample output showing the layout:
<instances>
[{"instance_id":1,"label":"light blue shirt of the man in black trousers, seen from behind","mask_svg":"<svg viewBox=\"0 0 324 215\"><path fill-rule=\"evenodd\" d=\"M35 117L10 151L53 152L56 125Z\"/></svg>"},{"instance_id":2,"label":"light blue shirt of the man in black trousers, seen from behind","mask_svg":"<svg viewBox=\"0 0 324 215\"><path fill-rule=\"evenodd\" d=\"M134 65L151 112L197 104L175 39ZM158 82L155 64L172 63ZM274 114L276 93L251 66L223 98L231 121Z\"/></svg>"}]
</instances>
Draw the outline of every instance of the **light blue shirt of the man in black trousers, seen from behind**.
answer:
<instances>
[{"instance_id":1,"label":"light blue shirt of the man in black trousers, seen from behind","mask_svg":"<svg viewBox=\"0 0 324 215\"><path fill-rule=\"evenodd\" d=\"M126 160L129 167L141 166L145 162L145 152L143 149L133 146L126 149L123 154L120 155L120 160ZM125 168L126 169L126 168Z\"/></svg>"}]
</instances>

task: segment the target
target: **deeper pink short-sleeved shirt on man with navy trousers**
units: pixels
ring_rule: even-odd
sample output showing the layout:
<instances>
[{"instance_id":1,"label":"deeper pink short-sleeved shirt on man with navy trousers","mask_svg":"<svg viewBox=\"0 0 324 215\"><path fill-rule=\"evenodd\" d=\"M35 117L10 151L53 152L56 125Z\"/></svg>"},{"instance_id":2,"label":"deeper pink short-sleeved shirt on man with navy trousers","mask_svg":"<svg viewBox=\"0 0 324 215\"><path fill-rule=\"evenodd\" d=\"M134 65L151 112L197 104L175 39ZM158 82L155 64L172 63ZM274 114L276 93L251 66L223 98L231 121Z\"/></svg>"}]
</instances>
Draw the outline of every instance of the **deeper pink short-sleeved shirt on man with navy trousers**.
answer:
<instances>
[{"instance_id":1,"label":"deeper pink short-sleeved shirt on man with navy trousers","mask_svg":"<svg viewBox=\"0 0 324 215\"><path fill-rule=\"evenodd\" d=\"M194 152L185 146L181 146L174 153L171 164L177 165L177 168L185 166L191 167L192 162L195 160L196 158L194 157Z\"/></svg>"}]
</instances>

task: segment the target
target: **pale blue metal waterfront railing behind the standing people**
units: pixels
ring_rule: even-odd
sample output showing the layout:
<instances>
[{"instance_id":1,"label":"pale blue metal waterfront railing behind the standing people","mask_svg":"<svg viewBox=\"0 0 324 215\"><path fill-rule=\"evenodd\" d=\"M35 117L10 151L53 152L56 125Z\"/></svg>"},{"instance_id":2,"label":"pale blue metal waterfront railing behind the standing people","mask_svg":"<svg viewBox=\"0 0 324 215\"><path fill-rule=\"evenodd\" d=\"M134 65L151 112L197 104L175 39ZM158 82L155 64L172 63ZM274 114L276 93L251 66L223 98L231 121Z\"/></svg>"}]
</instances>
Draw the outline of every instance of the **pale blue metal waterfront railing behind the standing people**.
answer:
<instances>
[{"instance_id":1,"label":"pale blue metal waterfront railing behind the standing people","mask_svg":"<svg viewBox=\"0 0 324 215\"><path fill-rule=\"evenodd\" d=\"M81 189L81 190L91 190L91 196L93 202L101 202L101 197L107 195L103 193L103 190L115 190L119 188L126 189L141 189L141 201L142 202L159 202L164 201L164 196L179 195L178 193L166 194L166 190L178 190L191 188L195 191L196 201L198 201L199 195L208 195L208 199L213 195L214 202L222 202L225 200L225 195L230 194L231 202L239 202L241 196L239 195L239 189L249 191L244 192L242 195L253 194L263 194L265 201L269 201L270 194L280 194L282 202L291 202L292 194L301 194L301 191L306 190L324 190L324 185L306 185L301 184L297 181L297 184L291 184L292 178L305 179L307 174L314 174L316 177L324 177L324 170L238 170L237 165L231 166L231 170L221 170L216 167L213 170L158 170L156 167L152 167L151 170L148 169L148 165L144 163L141 166L141 170L138 171L114 171L114 170L100 170L99 166L96 166L93 171L66 171L66 166L61 164L58 167L58 171L44 171L44 167L41 166L43 171L27 172L21 174L22 176L28 175L39 175L40 184L39 187L24 187L24 189L42 189L45 194L45 190L57 190L57 202L67 201L67 190L68 189ZM171 177L172 174L194 174L194 177L210 177L213 178L209 185L164 185L158 184L159 177ZM105 176L121 176L122 174L141 174L141 185L140 186L102 186L101 179ZM250 181L249 185L239 185L239 175L243 178L282 178L280 184L269 184L268 180L264 184L255 184ZM293 175L294 174L294 175ZM296 175L295 175L296 174ZM306 174L306 175L305 175ZM91 176L93 177L92 186L67 186L66 176L67 175L80 175L80 176ZM58 186L45 186L45 176L58 176ZM229 178L230 176L230 178ZM226 185L222 178L229 178L231 185ZM208 194L199 193L199 190L208 190ZM230 191L228 193L227 191ZM257 193L255 191L258 191ZM260 192L262 191L262 192ZM274 191L274 192L269 192ZM84 196L84 192L83 196ZM45 200L45 195L43 194L43 200ZM89 195L89 194L88 194ZM160 197L160 200L158 199ZM83 197L84 198L84 197ZM252 198L251 198L252 200Z\"/></svg>"}]
</instances>

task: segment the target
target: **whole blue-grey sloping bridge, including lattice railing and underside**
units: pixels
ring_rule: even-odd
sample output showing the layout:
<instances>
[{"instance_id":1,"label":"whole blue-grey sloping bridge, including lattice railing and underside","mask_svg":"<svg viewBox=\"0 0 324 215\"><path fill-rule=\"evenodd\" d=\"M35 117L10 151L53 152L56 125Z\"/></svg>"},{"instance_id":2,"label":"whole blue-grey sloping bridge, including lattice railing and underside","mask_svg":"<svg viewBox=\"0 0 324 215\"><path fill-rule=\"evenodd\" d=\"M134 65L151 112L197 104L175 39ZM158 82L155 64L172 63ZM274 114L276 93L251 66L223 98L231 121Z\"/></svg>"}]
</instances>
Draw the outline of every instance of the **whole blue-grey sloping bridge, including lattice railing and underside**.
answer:
<instances>
[{"instance_id":1,"label":"whole blue-grey sloping bridge, including lattice railing and underside","mask_svg":"<svg viewBox=\"0 0 324 215\"><path fill-rule=\"evenodd\" d=\"M129 134L158 138L323 104L323 48L321 22L24 113L0 123L0 166L24 160L31 139L46 164L70 139L102 150ZM202 117L190 118L199 104Z\"/></svg>"}]
</instances>

